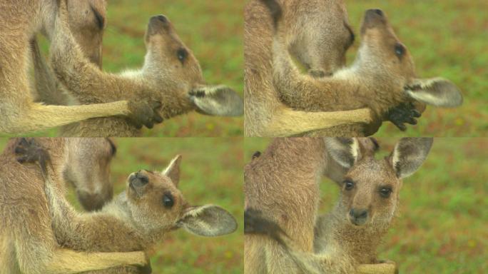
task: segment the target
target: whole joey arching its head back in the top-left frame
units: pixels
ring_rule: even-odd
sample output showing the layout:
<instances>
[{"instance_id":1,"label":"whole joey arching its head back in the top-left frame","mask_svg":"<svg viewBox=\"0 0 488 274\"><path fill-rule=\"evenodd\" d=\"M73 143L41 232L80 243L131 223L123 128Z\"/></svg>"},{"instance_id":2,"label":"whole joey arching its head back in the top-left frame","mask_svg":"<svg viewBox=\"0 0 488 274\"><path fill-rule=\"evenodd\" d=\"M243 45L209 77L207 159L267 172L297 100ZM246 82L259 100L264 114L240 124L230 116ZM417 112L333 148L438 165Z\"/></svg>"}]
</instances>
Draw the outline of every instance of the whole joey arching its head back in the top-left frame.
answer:
<instances>
[{"instance_id":1,"label":"whole joey arching its head back in the top-left frame","mask_svg":"<svg viewBox=\"0 0 488 274\"><path fill-rule=\"evenodd\" d=\"M171 118L197 110L214 116L239 116L243 101L226 86L208 86L197 59L176 34L166 16L151 17L146 31L143 68L120 74L104 73L83 57L67 26L61 4L61 24L51 46L51 64L57 78L80 103L138 97L139 92L161 97L161 116ZM72 73L71 71L78 71ZM128 92L130 90L131 92ZM120 118L92 119L63 128L63 136L139 136L141 131Z\"/></svg>"}]
</instances>

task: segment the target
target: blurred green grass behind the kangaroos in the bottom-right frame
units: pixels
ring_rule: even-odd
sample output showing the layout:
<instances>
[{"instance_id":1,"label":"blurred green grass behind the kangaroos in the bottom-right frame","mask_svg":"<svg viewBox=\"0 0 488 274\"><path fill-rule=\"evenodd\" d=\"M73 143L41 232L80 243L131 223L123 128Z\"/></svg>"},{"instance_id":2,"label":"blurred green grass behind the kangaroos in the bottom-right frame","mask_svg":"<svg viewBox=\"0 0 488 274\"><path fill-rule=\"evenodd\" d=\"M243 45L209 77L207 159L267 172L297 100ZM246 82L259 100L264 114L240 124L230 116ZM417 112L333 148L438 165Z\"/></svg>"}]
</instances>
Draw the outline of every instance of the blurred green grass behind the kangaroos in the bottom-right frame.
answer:
<instances>
[{"instance_id":1,"label":"blurred green grass behind the kangaroos in the bottom-right frame","mask_svg":"<svg viewBox=\"0 0 488 274\"><path fill-rule=\"evenodd\" d=\"M397 138L379 138L387 156ZM245 139L245 163L270 143ZM436 138L417 173L405 179L400 208L379 258L394 260L400 273L488 273L488 139ZM320 213L330 210L339 188L324 179Z\"/></svg>"}]
</instances>

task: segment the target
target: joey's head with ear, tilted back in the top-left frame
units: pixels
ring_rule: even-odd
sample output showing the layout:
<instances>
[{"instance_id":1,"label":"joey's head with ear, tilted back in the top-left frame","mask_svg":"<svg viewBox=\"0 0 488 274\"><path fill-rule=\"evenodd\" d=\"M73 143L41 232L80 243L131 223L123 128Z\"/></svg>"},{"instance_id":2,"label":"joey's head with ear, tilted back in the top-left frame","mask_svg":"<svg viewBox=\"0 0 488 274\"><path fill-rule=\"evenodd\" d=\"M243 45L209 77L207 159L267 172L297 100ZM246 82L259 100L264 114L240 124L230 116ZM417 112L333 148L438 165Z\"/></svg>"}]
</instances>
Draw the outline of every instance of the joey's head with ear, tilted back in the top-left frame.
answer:
<instances>
[{"instance_id":1,"label":"joey's head with ear, tilted back in the top-left frame","mask_svg":"<svg viewBox=\"0 0 488 274\"><path fill-rule=\"evenodd\" d=\"M181 91L200 113L214 116L240 116L242 99L227 86L210 86L203 79L198 60L188 49L166 16L151 17L146 31L146 76L163 86Z\"/></svg>"}]
</instances>

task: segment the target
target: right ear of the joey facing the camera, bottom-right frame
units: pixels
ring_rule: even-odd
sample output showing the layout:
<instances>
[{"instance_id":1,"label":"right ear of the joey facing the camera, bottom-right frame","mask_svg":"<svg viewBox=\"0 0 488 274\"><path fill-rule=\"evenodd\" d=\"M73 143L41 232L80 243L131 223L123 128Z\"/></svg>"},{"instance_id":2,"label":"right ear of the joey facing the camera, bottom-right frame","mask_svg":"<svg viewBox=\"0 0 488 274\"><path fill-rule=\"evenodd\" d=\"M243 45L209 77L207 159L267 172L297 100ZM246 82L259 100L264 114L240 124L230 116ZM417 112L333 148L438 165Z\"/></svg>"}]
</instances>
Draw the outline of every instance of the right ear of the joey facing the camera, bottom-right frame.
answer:
<instances>
[{"instance_id":1,"label":"right ear of the joey facing the camera, bottom-right frame","mask_svg":"<svg viewBox=\"0 0 488 274\"><path fill-rule=\"evenodd\" d=\"M433 138L402 138L390 154L389 161L402 179L415 173L429 154Z\"/></svg>"}]
</instances>

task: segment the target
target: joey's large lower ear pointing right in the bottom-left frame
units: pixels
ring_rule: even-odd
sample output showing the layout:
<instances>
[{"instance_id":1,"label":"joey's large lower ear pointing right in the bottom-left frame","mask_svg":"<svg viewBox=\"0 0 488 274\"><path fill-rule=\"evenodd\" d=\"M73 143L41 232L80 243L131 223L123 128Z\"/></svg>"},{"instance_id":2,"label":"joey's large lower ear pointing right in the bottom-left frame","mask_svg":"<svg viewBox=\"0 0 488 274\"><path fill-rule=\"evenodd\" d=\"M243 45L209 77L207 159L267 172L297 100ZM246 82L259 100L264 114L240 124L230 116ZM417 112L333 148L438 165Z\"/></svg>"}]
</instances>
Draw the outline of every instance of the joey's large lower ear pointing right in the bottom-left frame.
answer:
<instances>
[{"instance_id":1,"label":"joey's large lower ear pointing right in the bottom-left frame","mask_svg":"<svg viewBox=\"0 0 488 274\"><path fill-rule=\"evenodd\" d=\"M178 226L195 235L214 237L233 233L237 222L233 215L217 205L188 208Z\"/></svg>"}]
</instances>

